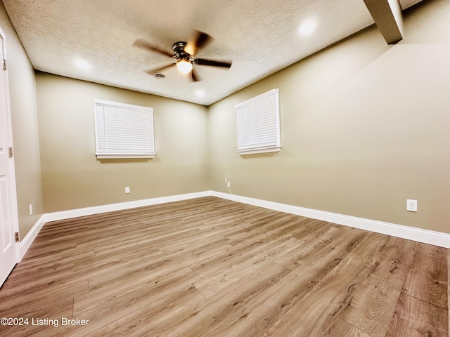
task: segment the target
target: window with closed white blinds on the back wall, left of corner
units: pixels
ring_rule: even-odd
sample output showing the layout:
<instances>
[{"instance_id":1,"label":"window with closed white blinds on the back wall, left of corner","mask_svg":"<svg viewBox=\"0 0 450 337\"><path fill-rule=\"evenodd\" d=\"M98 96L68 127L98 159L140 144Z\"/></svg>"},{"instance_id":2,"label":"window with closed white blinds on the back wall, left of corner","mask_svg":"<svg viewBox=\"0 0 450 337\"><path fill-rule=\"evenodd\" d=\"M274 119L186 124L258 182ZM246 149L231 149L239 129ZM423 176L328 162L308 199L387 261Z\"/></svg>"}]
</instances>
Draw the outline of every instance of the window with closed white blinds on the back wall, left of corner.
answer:
<instances>
[{"instance_id":1,"label":"window with closed white blinds on the back wall, left of corner","mask_svg":"<svg viewBox=\"0 0 450 337\"><path fill-rule=\"evenodd\" d=\"M95 100L96 156L154 158L153 108Z\"/></svg>"}]
</instances>

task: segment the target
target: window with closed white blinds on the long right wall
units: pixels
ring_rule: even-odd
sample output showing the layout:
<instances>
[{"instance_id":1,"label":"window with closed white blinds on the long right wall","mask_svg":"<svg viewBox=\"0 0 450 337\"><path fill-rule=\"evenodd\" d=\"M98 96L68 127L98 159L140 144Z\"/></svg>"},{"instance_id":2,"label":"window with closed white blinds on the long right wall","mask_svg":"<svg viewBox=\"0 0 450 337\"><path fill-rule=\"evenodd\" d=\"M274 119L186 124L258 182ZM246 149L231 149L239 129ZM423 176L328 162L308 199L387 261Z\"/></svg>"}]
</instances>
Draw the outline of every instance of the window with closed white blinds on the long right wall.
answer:
<instances>
[{"instance_id":1,"label":"window with closed white blinds on the long right wall","mask_svg":"<svg viewBox=\"0 0 450 337\"><path fill-rule=\"evenodd\" d=\"M235 105L238 112L238 152L277 152L280 142L278 88Z\"/></svg>"}]
</instances>

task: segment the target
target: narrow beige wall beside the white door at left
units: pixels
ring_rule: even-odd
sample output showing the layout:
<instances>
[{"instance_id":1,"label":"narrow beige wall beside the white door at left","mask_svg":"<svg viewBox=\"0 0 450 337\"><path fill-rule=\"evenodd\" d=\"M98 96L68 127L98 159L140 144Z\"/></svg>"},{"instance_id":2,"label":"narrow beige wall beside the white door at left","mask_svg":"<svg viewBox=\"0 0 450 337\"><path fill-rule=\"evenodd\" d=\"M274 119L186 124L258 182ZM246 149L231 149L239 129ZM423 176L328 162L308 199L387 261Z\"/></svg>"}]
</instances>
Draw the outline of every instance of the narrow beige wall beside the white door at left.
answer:
<instances>
[{"instance_id":1,"label":"narrow beige wall beside the white door at left","mask_svg":"<svg viewBox=\"0 0 450 337\"><path fill-rule=\"evenodd\" d=\"M44 213L39 163L36 85L33 67L1 1L0 27L6 34L18 218L20 237L23 239ZM29 204L33 205L32 216L29 213Z\"/></svg>"}]
</instances>

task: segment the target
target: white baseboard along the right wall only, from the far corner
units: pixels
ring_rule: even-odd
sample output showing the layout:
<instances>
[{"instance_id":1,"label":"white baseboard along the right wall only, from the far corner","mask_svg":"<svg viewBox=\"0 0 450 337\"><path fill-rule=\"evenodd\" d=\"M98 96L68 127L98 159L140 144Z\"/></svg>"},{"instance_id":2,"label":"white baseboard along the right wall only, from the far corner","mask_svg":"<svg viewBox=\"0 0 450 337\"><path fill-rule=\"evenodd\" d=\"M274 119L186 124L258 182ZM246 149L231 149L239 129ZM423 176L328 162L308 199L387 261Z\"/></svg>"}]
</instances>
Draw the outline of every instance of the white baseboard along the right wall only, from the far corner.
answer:
<instances>
[{"instance_id":1,"label":"white baseboard along the right wall only, from the far corner","mask_svg":"<svg viewBox=\"0 0 450 337\"><path fill-rule=\"evenodd\" d=\"M211 192L210 195L213 197L238 201L242 202L243 204L250 204L253 206L264 207L265 209L273 209L274 211L281 211L285 213L295 214L297 216L305 216L307 218L328 221L329 223L337 223L339 225L355 227L361 230L368 230L380 234L387 234L393 237L401 237L402 239L409 239L416 242L422 242L424 244L432 244L434 246L450 248L450 234L442 232L423 230L420 228L397 225L394 223L385 223L383 221L378 220L357 218L355 216L345 216L338 213L318 211L316 209L305 209L304 207L279 204L273 201L254 199L249 197L241 197L235 194L228 194L215 191L210 192Z\"/></svg>"}]
</instances>

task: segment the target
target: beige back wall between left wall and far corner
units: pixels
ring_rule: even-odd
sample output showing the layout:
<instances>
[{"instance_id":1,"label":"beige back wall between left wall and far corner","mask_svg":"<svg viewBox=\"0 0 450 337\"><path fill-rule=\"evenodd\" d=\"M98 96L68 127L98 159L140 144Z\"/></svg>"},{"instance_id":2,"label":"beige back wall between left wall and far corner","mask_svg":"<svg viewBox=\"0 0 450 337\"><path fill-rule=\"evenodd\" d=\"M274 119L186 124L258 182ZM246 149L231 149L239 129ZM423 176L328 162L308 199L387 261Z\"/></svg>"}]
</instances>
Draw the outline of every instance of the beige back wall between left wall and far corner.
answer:
<instances>
[{"instance_id":1,"label":"beige back wall between left wall and far corner","mask_svg":"<svg viewBox=\"0 0 450 337\"><path fill-rule=\"evenodd\" d=\"M153 107L155 159L96 159L96 98ZM40 72L37 107L46 213L208 190L206 107Z\"/></svg>"}]
</instances>

